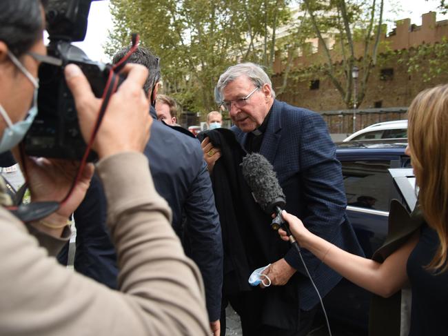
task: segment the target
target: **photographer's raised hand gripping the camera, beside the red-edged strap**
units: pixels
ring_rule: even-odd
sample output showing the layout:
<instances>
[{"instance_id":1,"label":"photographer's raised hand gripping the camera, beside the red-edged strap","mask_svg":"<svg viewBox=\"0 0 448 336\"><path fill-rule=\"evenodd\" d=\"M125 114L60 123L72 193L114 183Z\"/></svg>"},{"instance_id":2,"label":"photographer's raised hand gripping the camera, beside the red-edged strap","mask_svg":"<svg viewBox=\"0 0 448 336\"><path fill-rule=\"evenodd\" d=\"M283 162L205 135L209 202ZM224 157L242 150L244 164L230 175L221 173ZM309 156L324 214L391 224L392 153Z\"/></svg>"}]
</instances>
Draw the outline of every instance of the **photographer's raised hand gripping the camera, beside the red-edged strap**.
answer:
<instances>
[{"instance_id":1,"label":"photographer's raised hand gripping the camera, beside the red-edged strap","mask_svg":"<svg viewBox=\"0 0 448 336\"><path fill-rule=\"evenodd\" d=\"M125 151L141 152L150 138L150 103L143 92L147 69L128 64L123 72L128 77L110 98L92 146L100 158ZM85 141L89 141L101 99L94 97L88 80L74 64L65 67L65 79L77 106L81 132Z\"/></svg>"}]
</instances>

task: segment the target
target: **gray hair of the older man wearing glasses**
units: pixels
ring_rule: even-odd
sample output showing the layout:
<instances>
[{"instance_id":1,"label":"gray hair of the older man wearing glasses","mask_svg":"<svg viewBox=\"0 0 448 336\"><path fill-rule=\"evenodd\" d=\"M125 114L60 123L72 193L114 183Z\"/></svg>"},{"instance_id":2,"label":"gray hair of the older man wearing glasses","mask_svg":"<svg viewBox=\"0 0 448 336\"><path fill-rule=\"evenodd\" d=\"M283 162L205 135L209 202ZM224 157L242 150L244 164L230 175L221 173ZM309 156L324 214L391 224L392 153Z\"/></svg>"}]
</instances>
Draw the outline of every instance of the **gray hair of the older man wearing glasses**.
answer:
<instances>
[{"instance_id":1,"label":"gray hair of the older man wearing glasses","mask_svg":"<svg viewBox=\"0 0 448 336\"><path fill-rule=\"evenodd\" d=\"M231 66L225 70L223 75L219 77L218 84L216 84L215 99L222 99L223 90L227 84L241 76L248 77L257 88L261 88L265 84L269 85L271 88L271 96L272 98L275 98L271 79L269 79L265 70L263 70L261 66L258 66L258 64L247 62L236 64L236 66ZM217 93L219 93L219 95L217 95Z\"/></svg>"}]
</instances>

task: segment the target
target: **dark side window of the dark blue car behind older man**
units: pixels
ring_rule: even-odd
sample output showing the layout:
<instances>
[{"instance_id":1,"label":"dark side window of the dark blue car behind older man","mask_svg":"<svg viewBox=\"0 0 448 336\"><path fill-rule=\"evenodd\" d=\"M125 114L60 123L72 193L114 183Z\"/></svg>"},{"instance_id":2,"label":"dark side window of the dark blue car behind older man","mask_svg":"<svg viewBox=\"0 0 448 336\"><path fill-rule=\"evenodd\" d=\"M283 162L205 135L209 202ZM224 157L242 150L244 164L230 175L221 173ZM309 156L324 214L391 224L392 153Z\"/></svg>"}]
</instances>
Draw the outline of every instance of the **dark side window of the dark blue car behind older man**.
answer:
<instances>
[{"instance_id":1,"label":"dark side window of the dark blue car behind older man","mask_svg":"<svg viewBox=\"0 0 448 336\"><path fill-rule=\"evenodd\" d=\"M347 205L389 211L390 161L343 161Z\"/></svg>"}]
</instances>

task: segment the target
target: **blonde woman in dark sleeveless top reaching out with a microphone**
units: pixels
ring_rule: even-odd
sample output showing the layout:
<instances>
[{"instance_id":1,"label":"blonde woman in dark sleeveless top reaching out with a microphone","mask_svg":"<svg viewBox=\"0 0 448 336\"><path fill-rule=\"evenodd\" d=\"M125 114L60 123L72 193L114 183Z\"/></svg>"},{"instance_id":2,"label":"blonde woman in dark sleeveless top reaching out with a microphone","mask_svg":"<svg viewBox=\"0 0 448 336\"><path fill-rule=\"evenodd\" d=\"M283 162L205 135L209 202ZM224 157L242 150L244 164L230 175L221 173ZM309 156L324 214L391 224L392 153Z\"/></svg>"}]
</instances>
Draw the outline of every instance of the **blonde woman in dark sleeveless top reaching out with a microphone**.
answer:
<instances>
[{"instance_id":1,"label":"blonde woman in dark sleeveless top reaching out with a microphone","mask_svg":"<svg viewBox=\"0 0 448 336\"><path fill-rule=\"evenodd\" d=\"M425 220L383 263L341 250L285 211L283 218L302 248L354 284L380 297L391 297L409 283L409 335L448 335L448 85L420 92L408 115L406 152L420 188L417 211L421 210ZM284 230L279 234L288 239Z\"/></svg>"}]
</instances>

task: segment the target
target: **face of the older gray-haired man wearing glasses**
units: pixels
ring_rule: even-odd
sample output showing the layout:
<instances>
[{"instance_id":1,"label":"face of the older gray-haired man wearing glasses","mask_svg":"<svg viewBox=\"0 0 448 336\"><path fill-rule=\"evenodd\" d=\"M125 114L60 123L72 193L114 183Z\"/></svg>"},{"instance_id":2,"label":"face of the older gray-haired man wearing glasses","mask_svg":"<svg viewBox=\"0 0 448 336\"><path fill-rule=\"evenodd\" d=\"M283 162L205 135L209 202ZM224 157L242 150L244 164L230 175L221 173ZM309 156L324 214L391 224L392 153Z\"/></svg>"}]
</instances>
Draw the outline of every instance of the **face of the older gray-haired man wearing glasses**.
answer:
<instances>
[{"instance_id":1,"label":"face of the older gray-haired man wearing glasses","mask_svg":"<svg viewBox=\"0 0 448 336\"><path fill-rule=\"evenodd\" d=\"M225 86L223 89L223 100L234 101L246 97L256 86L249 77L241 76ZM259 90L256 90L245 106L238 108L232 103L229 115L234 124L243 132L252 132L263 123L267 112L272 106L274 99L271 97L271 89L265 84Z\"/></svg>"}]
</instances>

